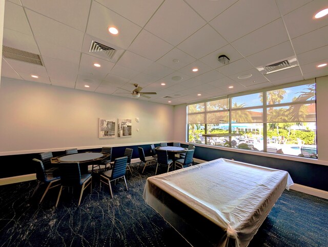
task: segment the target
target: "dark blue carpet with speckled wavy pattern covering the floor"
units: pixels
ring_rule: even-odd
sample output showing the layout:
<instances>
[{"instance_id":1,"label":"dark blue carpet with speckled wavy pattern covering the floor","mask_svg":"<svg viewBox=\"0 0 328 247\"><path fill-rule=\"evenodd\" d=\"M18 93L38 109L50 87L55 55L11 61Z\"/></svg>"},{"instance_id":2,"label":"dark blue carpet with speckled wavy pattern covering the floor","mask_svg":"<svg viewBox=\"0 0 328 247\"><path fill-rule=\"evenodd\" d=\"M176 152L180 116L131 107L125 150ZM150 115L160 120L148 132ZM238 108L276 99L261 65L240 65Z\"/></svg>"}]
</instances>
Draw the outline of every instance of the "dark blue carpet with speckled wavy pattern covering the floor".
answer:
<instances>
[{"instance_id":1,"label":"dark blue carpet with speckled wavy pattern covering the floor","mask_svg":"<svg viewBox=\"0 0 328 247\"><path fill-rule=\"evenodd\" d=\"M129 191L121 180L114 198L99 176L85 191L80 207L77 193L67 191L54 208L58 188L38 204L44 188L31 198L36 181L0 187L0 246L190 246L142 198L145 181L133 164L127 174ZM164 172L164 171L162 171ZM284 191L249 246L328 246L328 200Z\"/></svg>"}]
</instances>

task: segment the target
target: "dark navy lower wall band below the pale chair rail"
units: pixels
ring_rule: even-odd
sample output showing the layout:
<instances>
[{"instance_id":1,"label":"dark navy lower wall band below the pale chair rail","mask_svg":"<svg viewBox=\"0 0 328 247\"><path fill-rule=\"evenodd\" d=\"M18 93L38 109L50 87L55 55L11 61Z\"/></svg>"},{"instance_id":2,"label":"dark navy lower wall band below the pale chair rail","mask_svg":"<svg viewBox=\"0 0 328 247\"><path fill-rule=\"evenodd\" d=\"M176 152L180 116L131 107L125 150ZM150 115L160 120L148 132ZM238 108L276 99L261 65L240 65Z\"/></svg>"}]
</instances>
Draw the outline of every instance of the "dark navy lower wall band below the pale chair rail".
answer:
<instances>
[{"instance_id":1,"label":"dark navy lower wall band below the pale chair rail","mask_svg":"<svg viewBox=\"0 0 328 247\"><path fill-rule=\"evenodd\" d=\"M168 145L172 146L172 143L168 143ZM157 146L159 146L159 143L155 145L155 147ZM188 145L181 146L188 147ZM138 158L138 147L142 147L144 149L146 156L151 155L150 145L114 147L112 151L112 160L118 157L122 157L126 148L133 149L133 159ZM79 150L78 152L88 151L100 152L101 148ZM53 152L54 157L63 154L65 154L65 151ZM38 153L0 156L0 164L2 166L0 178L34 173L34 168L32 164L33 158L38 158ZM217 158L227 158L234 159L236 161L257 164L258 166L284 170L289 172L289 174L293 178L294 183L302 184L303 186L308 186L319 190L328 191L328 166L323 166L320 164L278 159L266 156L259 156L255 154L237 153L233 151L212 149L206 147L196 147L194 158L207 161Z\"/></svg>"}]
</instances>

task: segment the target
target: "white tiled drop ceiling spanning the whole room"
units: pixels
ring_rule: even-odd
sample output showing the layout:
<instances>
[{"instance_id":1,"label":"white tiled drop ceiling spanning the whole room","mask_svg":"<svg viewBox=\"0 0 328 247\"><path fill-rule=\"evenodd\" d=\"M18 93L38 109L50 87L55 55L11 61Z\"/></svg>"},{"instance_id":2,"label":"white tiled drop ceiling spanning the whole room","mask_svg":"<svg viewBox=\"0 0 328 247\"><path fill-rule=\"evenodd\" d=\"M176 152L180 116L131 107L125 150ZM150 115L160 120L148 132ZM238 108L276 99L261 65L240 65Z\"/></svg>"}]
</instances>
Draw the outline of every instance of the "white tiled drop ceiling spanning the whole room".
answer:
<instances>
[{"instance_id":1,"label":"white tiled drop ceiling spanning the whole room","mask_svg":"<svg viewBox=\"0 0 328 247\"><path fill-rule=\"evenodd\" d=\"M3 45L40 55L43 66L3 57L1 75L130 98L139 84L157 94L135 100L170 105L311 79L328 75L316 67L328 61L328 15L314 19L324 8L324 0L7 0ZM93 41L115 56L89 52ZM299 66L256 69L288 57Z\"/></svg>"}]
</instances>

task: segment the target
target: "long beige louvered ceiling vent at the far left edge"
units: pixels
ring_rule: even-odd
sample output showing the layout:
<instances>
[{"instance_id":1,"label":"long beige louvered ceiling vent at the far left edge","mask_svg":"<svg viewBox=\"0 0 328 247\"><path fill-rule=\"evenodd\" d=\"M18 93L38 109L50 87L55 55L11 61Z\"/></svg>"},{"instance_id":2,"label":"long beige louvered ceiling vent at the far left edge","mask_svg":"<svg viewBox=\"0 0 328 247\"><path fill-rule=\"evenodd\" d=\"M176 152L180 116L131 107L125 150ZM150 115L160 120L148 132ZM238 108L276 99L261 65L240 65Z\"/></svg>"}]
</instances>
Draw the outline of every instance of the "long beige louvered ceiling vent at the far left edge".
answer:
<instances>
[{"instance_id":1,"label":"long beige louvered ceiling vent at the far left edge","mask_svg":"<svg viewBox=\"0 0 328 247\"><path fill-rule=\"evenodd\" d=\"M25 63L43 66L40 55L9 46L2 46L2 56L17 61L23 61Z\"/></svg>"}]
</instances>

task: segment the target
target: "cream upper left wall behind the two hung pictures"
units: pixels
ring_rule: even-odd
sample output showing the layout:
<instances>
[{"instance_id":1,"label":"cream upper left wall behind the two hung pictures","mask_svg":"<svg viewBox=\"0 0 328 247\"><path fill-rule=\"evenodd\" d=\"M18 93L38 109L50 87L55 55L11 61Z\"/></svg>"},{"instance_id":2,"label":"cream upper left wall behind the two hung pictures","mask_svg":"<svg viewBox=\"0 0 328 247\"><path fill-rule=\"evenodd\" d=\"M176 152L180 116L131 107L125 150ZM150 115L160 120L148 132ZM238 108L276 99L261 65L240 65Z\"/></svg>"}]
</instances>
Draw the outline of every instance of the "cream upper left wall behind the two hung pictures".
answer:
<instances>
[{"instance_id":1,"label":"cream upper left wall behind the two hung pictures","mask_svg":"<svg viewBox=\"0 0 328 247\"><path fill-rule=\"evenodd\" d=\"M98 138L99 117L132 118L132 136ZM173 118L169 105L2 77L0 155L171 141Z\"/></svg>"}]
</instances>

